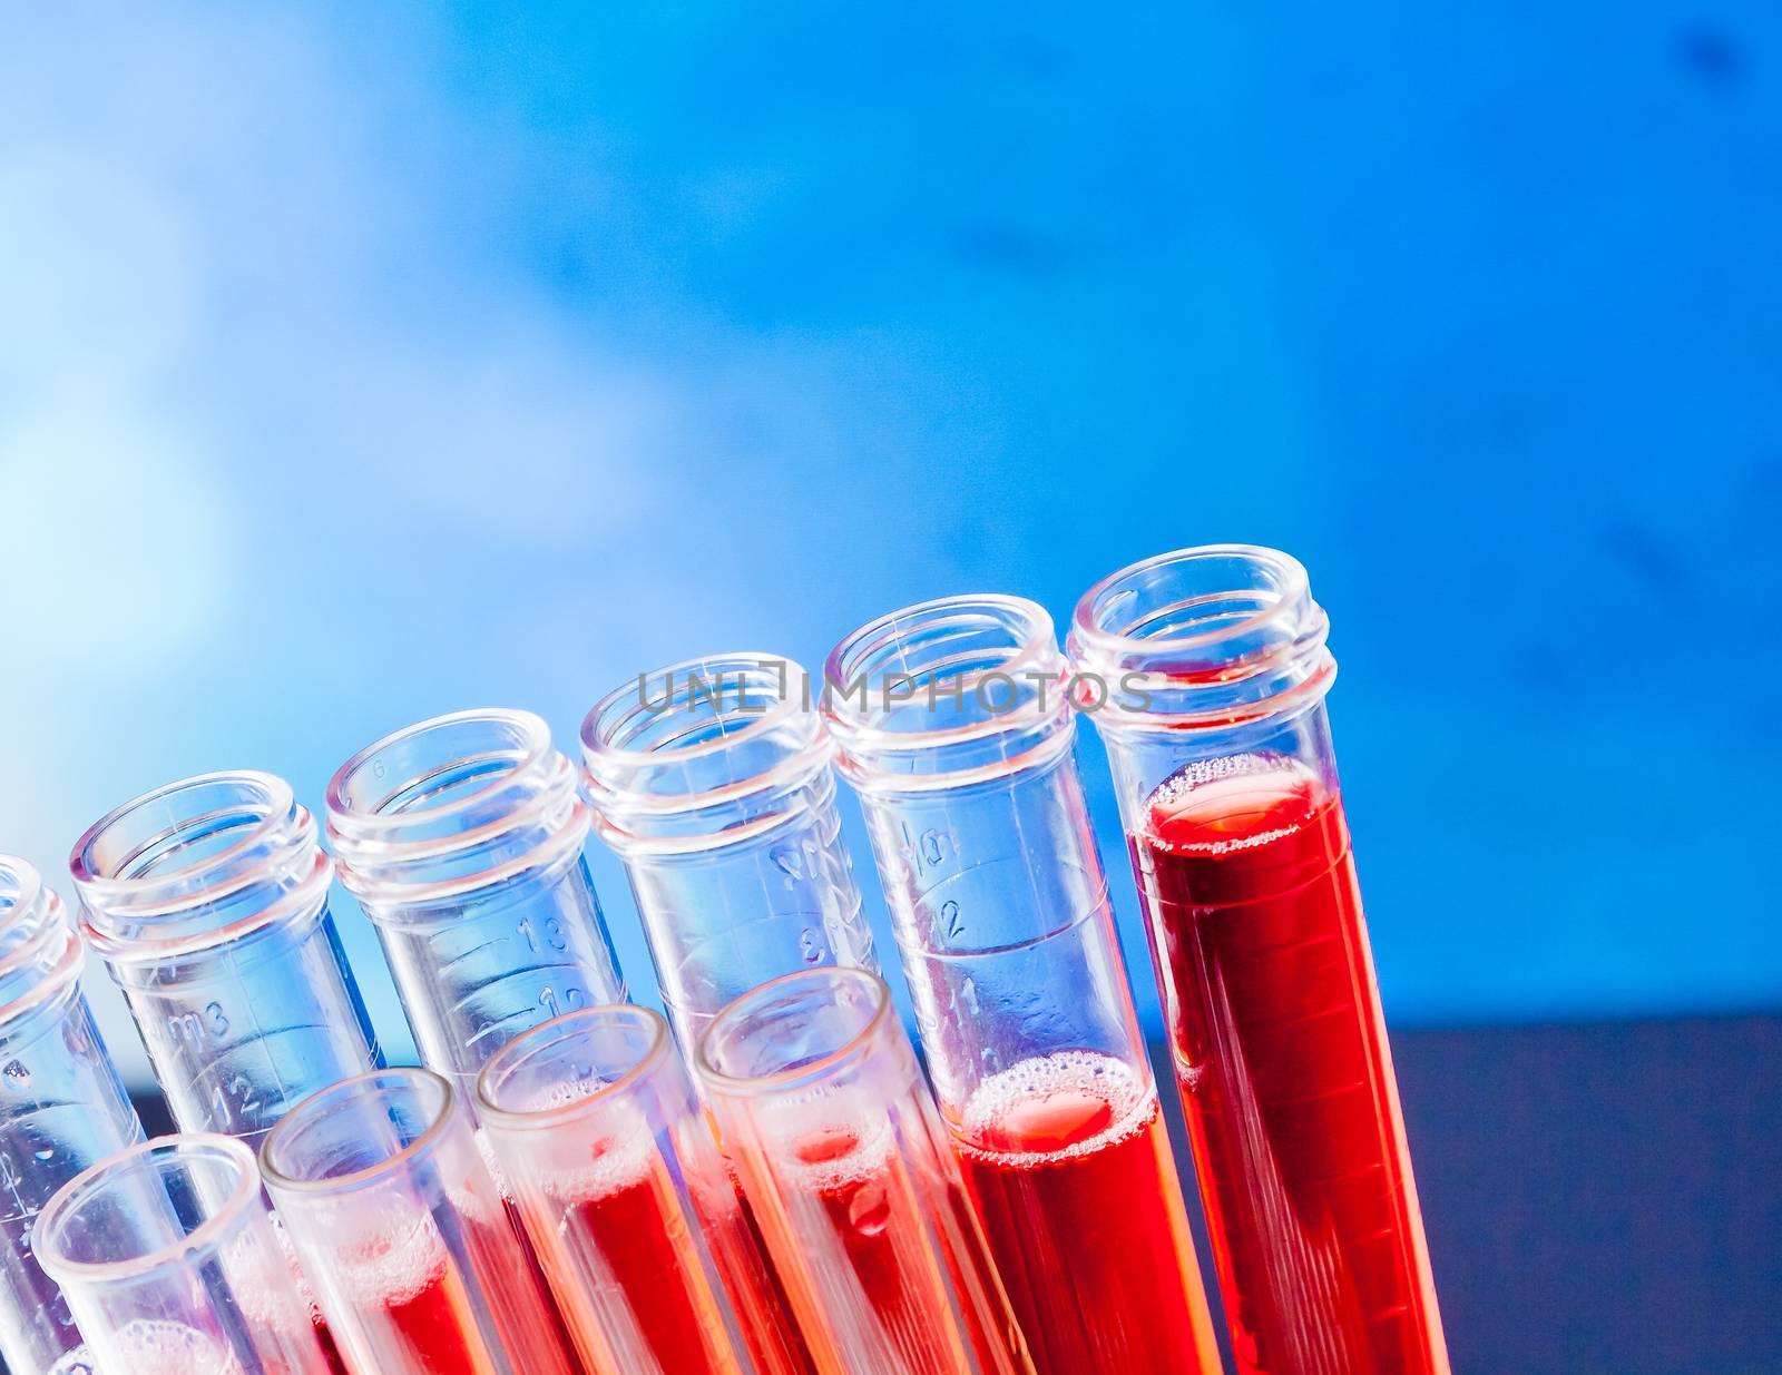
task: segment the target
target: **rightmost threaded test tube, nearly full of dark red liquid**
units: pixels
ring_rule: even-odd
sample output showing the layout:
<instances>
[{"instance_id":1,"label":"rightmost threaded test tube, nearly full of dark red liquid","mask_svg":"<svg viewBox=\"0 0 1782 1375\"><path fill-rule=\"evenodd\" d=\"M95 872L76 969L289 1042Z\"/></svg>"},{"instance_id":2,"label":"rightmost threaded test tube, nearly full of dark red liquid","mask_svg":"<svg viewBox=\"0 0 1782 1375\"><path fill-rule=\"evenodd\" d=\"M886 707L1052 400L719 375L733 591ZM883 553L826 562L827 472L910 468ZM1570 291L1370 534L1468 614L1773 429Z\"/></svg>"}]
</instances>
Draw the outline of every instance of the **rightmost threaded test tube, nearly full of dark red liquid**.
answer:
<instances>
[{"instance_id":1,"label":"rightmost threaded test tube, nearly full of dark red liquid","mask_svg":"<svg viewBox=\"0 0 1782 1375\"><path fill-rule=\"evenodd\" d=\"M1212 545L1098 582L1107 743L1238 1370L1447 1375L1306 570Z\"/></svg>"}]
</instances>

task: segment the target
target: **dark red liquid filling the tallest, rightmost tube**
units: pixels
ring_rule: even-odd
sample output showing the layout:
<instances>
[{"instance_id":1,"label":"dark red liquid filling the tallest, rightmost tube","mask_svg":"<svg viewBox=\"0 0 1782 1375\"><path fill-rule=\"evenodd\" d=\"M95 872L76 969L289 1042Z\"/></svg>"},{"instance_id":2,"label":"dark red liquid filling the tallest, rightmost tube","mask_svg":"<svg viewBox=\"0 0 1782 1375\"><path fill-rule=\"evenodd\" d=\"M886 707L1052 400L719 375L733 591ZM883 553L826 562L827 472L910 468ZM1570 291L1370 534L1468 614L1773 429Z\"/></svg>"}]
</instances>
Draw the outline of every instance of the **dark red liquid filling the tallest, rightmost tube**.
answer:
<instances>
[{"instance_id":1,"label":"dark red liquid filling the tallest, rightmost tube","mask_svg":"<svg viewBox=\"0 0 1782 1375\"><path fill-rule=\"evenodd\" d=\"M1342 801L1196 764L1133 842L1242 1375L1447 1375Z\"/></svg>"}]
</instances>

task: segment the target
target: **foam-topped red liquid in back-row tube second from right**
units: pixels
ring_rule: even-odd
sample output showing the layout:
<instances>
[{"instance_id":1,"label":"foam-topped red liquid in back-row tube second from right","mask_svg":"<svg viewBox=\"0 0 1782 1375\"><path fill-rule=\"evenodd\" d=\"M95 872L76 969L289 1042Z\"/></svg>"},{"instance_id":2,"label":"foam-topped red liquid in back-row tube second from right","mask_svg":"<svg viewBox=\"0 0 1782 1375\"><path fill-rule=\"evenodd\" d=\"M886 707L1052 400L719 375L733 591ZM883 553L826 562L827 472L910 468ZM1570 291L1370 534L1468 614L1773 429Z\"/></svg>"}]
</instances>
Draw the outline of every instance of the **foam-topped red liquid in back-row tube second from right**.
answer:
<instances>
[{"instance_id":1,"label":"foam-topped red liquid in back-row tube second from right","mask_svg":"<svg viewBox=\"0 0 1782 1375\"><path fill-rule=\"evenodd\" d=\"M966 1108L959 1159L1039 1375L1219 1375L1157 1092L1099 1054L1030 1060Z\"/></svg>"}]
</instances>

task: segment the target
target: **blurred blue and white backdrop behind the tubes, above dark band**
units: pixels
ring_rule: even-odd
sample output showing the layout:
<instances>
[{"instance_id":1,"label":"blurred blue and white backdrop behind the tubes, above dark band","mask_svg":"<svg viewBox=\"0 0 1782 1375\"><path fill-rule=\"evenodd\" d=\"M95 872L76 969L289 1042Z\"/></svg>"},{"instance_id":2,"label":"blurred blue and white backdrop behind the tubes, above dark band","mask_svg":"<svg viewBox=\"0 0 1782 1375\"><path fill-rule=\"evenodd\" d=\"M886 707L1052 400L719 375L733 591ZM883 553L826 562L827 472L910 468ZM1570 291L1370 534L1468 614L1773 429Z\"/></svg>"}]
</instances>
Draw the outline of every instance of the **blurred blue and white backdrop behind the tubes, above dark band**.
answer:
<instances>
[{"instance_id":1,"label":"blurred blue and white backdrop behind the tubes, above dark band","mask_svg":"<svg viewBox=\"0 0 1782 1375\"><path fill-rule=\"evenodd\" d=\"M1782 1005L1782 9L531 9L7 18L0 850L1251 540L1397 1026Z\"/></svg>"}]
</instances>

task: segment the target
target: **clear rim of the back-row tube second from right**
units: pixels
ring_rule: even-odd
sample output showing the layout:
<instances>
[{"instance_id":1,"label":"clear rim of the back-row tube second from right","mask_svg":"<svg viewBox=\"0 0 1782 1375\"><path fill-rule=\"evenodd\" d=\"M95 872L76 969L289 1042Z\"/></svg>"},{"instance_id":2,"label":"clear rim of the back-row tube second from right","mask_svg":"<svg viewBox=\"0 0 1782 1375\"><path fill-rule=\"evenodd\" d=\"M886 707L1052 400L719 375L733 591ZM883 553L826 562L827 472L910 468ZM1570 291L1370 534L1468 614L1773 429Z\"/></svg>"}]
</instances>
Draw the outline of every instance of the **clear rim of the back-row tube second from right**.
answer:
<instances>
[{"instance_id":1,"label":"clear rim of the back-row tube second from right","mask_svg":"<svg viewBox=\"0 0 1782 1375\"><path fill-rule=\"evenodd\" d=\"M911 606L898 607L896 611L887 611L886 614L866 622L852 634L838 641L829 652L823 659L823 720L829 723L830 730L848 743L871 739L875 744L884 748L923 750L937 744L984 739L987 736L1000 736L1007 730L1026 728L1035 720L1044 720L1053 714L1067 716L1069 712L1067 705L1062 704L1062 693L1059 695L1059 704L1051 709L1041 707L1035 711L1001 712L993 714L984 721L936 727L932 730L886 730L879 725L873 712L854 709L852 698L846 693L846 659L850 655L859 652L862 647L895 643L911 629L916 629L925 622L971 611L985 611L1003 616L1018 625L1023 634L1019 638L1019 645L1016 645L1003 663L994 668L957 675L960 693L975 691L978 684L994 677L1012 679L1016 673L1048 664L1057 668L1055 677L1059 680L1067 677L1069 664L1066 663L1062 647L1059 645L1057 623L1053 622L1051 613L1039 602L1028 597L1014 597L996 591L934 597L927 602L912 602ZM843 748L846 750L848 746L845 744Z\"/></svg>"}]
</instances>

